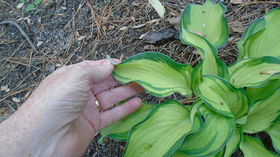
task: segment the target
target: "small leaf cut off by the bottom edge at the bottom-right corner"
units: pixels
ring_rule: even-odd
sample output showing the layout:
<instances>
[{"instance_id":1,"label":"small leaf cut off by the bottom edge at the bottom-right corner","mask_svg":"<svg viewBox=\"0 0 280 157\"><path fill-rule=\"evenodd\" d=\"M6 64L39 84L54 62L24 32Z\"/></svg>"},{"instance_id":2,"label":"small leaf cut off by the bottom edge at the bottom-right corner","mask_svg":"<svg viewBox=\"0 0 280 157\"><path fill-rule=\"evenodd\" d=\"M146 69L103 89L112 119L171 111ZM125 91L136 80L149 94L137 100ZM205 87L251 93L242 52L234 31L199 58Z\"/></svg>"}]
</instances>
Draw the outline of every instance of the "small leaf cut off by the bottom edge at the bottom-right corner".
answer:
<instances>
[{"instance_id":1,"label":"small leaf cut off by the bottom edge at the bottom-right corner","mask_svg":"<svg viewBox=\"0 0 280 157\"><path fill-rule=\"evenodd\" d=\"M277 154L274 154L272 151L267 150L262 142L257 138L244 135L243 140L240 144L240 149L244 154L244 157L276 157Z\"/></svg>"}]
</instances>

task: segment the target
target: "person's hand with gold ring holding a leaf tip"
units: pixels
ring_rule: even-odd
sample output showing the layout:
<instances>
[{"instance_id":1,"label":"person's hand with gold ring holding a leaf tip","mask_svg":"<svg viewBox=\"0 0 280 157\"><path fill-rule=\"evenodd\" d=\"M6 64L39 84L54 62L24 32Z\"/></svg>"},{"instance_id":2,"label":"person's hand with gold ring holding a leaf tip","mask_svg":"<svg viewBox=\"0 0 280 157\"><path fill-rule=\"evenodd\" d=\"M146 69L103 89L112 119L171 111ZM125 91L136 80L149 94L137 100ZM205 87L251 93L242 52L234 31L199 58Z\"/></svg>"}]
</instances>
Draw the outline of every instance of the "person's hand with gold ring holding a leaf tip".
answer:
<instances>
[{"instance_id":1,"label":"person's hand with gold ring holding a leaf tip","mask_svg":"<svg viewBox=\"0 0 280 157\"><path fill-rule=\"evenodd\" d=\"M46 77L19 110L0 124L3 156L82 156L100 129L141 105L140 98L132 98L113 107L144 89L136 83L116 87L120 84L112 71L108 60L83 61Z\"/></svg>"}]
</instances>

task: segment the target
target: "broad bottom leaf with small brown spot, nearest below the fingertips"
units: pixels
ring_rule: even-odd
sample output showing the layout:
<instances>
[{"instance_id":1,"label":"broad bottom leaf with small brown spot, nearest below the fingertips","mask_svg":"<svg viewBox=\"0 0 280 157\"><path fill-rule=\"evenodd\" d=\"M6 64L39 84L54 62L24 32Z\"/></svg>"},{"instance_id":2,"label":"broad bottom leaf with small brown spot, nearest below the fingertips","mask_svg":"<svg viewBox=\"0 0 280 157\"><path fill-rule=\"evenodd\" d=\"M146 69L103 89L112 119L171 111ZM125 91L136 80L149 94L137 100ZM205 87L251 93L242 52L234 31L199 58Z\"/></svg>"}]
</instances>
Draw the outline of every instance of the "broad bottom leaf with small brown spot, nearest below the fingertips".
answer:
<instances>
[{"instance_id":1,"label":"broad bottom leaf with small brown spot, nearest below the fingertips","mask_svg":"<svg viewBox=\"0 0 280 157\"><path fill-rule=\"evenodd\" d=\"M190 130L190 112L181 103L169 100L155 105L148 117L130 130L123 156L171 156Z\"/></svg>"}]
</instances>

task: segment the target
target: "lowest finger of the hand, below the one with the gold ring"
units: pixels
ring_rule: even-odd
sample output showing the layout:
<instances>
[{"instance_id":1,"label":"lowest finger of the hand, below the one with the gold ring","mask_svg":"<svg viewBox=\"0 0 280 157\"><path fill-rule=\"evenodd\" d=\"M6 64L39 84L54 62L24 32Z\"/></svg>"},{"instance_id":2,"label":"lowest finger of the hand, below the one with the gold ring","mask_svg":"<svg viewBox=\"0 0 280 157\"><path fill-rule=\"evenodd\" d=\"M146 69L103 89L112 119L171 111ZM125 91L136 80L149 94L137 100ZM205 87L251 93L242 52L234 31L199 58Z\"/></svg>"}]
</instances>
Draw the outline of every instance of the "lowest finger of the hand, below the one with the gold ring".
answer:
<instances>
[{"instance_id":1,"label":"lowest finger of the hand, below the one with the gold ring","mask_svg":"<svg viewBox=\"0 0 280 157\"><path fill-rule=\"evenodd\" d=\"M127 116L128 114L136 111L141 106L140 98L132 98L127 102L123 103L123 105L119 105L117 107L113 107L110 110L106 110L101 112L101 121L100 121L100 129L109 126L115 121Z\"/></svg>"}]
</instances>

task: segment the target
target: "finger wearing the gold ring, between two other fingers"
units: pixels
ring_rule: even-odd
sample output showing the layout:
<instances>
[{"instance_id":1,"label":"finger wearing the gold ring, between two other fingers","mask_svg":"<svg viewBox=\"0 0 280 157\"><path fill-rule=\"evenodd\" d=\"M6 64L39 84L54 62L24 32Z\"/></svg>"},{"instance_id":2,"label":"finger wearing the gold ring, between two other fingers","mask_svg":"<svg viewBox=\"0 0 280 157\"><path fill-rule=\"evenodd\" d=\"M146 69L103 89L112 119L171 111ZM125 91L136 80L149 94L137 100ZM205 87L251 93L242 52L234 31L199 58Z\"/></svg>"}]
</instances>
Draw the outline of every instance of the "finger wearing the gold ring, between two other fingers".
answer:
<instances>
[{"instance_id":1,"label":"finger wearing the gold ring, between two other fingers","mask_svg":"<svg viewBox=\"0 0 280 157\"><path fill-rule=\"evenodd\" d=\"M102 110L107 110L116 103L119 103L120 101L130 98L136 94L141 94L144 91L145 90L139 84L132 82L122 87L103 91L102 93L97 94L96 98Z\"/></svg>"}]
</instances>

